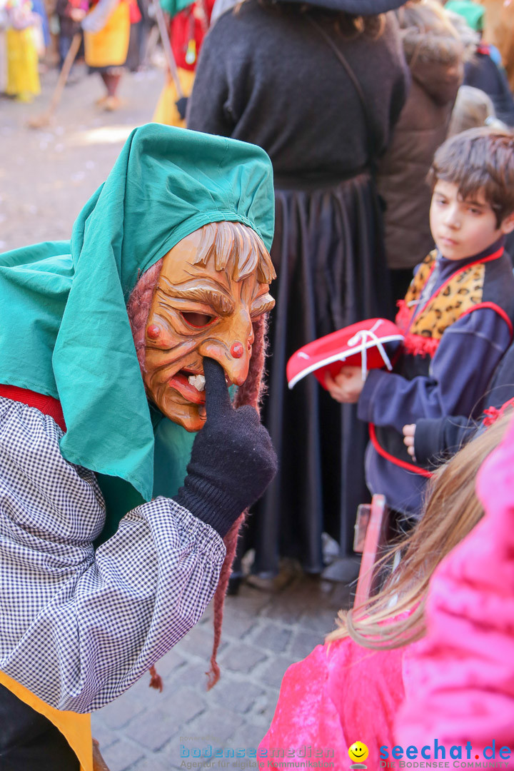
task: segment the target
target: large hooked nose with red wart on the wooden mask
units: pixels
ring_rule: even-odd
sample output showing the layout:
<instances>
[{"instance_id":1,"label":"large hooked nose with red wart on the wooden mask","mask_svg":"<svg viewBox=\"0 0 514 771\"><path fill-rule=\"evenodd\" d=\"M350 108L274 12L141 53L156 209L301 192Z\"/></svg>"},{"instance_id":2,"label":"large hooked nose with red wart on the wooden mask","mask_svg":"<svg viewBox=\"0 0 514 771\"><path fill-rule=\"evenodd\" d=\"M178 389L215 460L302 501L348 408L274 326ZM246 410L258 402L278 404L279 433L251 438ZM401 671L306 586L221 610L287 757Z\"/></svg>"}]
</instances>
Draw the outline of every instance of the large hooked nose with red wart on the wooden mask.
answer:
<instances>
[{"instance_id":1,"label":"large hooked nose with red wart on the wooden mask","mask_svg":"<svg viewBox=\"0 0 514 771\"><path fill-rule=\"evenodd\" d=\"M201 356L219 362L236 385L243 385L248 376L254 330L250 316L242 311L237 318L225 319L224 324L217 328L216 335L207 338L198 352Z\"/></svg>"}]
</instances>

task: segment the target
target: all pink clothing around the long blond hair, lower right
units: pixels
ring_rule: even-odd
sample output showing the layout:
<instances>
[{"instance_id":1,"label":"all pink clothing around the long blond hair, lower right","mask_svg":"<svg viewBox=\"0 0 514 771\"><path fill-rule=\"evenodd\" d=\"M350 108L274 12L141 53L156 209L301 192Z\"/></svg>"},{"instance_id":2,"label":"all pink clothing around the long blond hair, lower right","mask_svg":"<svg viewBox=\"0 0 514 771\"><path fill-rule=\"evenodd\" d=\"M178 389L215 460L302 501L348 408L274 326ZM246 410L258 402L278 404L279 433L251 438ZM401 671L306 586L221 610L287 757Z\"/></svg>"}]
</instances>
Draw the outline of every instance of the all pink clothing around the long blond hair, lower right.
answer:
<instances>
[{"instance_id":1,"label":"all pink clothing around the long blond hair, lower right","mask_svg":"<svg viewBox=\"0 0 514 771\"><path fill-rule=\"evenodd\" d=\"M450 763L449 749L467 742L470 760L483 762L493 740L496 760L506 759L499 749L514 745L514 421L477 490L485 518L432 576L428 635L389 651L344 638L292 665L257 753L261 768L309 759L346 771L359 741L375 771L381 746L391 759L395 744L405 753L432 749L436 738Z\"/></svg>"}]
</instances>

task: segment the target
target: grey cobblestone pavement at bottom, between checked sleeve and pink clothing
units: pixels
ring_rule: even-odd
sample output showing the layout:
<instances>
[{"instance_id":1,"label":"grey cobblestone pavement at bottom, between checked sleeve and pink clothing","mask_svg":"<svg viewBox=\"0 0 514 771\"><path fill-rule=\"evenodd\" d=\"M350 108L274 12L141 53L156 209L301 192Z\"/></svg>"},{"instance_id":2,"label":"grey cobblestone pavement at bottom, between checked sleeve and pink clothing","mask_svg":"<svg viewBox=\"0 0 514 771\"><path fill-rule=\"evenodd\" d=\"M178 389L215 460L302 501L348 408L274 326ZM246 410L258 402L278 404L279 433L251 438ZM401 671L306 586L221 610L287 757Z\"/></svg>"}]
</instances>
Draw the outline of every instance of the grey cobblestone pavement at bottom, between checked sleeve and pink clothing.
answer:
<instances>
[{"instance_id":1,"label":"grey cobblestone pavement at bottom, between checked sleeve and pink clothing","mask_svg":"<svg viewBox=\"0 0 514 771\"><path fill-rule=\"evenodd\" d=\"M270 726L285 670L323 641L338 608L348 605L345 584L301 574L284 580L273 593L244 585L227 598L221 678L211 691L205 675L213 641L208 608L200 624L157 663L162 693L149 689L144 676L93 715L93 736L111 771L257 768L255 761L248 765L250 750ZM238 748L245 756L230 757ZM214 757L216 749L225 759Z\"/></svg>"}]
</instances>

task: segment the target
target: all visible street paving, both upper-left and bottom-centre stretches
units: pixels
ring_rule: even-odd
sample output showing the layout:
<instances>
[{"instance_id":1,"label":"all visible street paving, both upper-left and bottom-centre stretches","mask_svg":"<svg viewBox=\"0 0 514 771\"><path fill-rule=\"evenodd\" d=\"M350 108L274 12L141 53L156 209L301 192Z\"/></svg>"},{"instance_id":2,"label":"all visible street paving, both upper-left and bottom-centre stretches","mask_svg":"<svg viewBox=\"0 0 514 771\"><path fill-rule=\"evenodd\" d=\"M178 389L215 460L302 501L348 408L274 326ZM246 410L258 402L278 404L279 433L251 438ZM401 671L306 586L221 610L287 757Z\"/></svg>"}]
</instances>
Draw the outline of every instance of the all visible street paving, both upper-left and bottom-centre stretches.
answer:
<instances>
[{"instance_id":1,"label":"all visible street paving, both upper-left and bottom-centre stretches","mask_svg":"<svg viewBox=\"0 0 514 771\"><path fill-rule=\"evenodd\" d=\"M31 105L0 99L0 251L45 239L68 238L72 222L105 179L126 136L152 118L163 73L126 76L118 113L93 106L102 89L77 68L79 82L66 88L50 126L30 130L27 121L49 103L56 74L43 80ZM257 746L274 713L279 685L292 662L307 655L333 628L348 605L348 581L357 563L341 562L326 577L306 577L287 566L277 581L245 584L227 598L218 685L206 691L213 639L212 611L157 665L162 693L143 677L129 692L92 717L110 771L169 771L248 766L246 759L195 758L223 748ZM346 579L346 581L345 581ZM193 765L196 763L197 765ZM255 767L255 763L254 763Z\"/></svg>"}]
</instances>

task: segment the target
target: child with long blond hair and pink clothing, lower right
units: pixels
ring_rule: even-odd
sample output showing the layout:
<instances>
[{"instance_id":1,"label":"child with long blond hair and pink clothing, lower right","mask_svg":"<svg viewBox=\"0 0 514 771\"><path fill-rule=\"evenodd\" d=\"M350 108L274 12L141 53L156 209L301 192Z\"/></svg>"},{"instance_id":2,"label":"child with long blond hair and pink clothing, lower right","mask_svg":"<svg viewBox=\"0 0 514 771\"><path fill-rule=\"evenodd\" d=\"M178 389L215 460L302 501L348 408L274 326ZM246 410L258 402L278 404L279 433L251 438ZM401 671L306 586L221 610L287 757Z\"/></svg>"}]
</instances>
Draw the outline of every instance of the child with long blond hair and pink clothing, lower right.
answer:
<instances>
[{"instance_id":1,"label":"child with long blond hair and pink clothing, lower right","mask_svg":"<svg viewBox=\"0 0 514 771\"><path fill-rule=\"evenodd\" d=\"M475 479L511 415L438 471L425 514L401 544L398 571L381 594L365 608L340 613L340 628L325 645L287 670L273 722L257 751L266 768L278 771L284 763L309 759L346 771L348 749L363 742L364 763L375 771L381 762L398 767L399 759L435 760L435 737L439 744L449 737L463 744L472 740L473 748L489 742L493 729L498 747L508 743L509 731L512 739L514 449L501 471L485 463L479 476L484 503L510 495L510 508L502 503L495 513L502 527L492 533L492 523L485 520L473 530L483 515ZM509 442L514 448L514 427L502 447ZM422 639L427 625L433 642L431 635ZM410 758L413 747L417 760ZM445 752L451 760L450 747Z\"/></svg>"}]
</instances>

